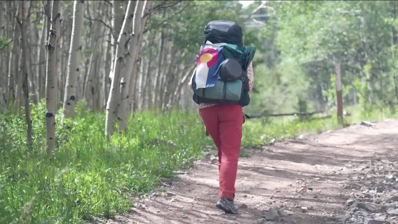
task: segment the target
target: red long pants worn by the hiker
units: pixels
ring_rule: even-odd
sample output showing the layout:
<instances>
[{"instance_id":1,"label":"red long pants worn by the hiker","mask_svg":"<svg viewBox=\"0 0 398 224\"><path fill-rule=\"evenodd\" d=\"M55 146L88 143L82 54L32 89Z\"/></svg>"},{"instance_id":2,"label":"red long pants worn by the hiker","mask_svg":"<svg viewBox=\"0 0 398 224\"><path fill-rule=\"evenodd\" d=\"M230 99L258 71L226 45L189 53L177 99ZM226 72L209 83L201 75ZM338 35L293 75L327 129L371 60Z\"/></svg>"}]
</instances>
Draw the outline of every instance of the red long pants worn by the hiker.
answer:
<instances>
[{"instance_id":1,"label":"red long pants worn by the hiker","mask_svg":"<svg viewBox=\"0 0 398 224\"><path fill-rule=\"evenodd\" d=\"M218 149L219 197L233 200L242 140L242 106L215 105L201 108L199 113Z\"/></svg>"}]
</instances>

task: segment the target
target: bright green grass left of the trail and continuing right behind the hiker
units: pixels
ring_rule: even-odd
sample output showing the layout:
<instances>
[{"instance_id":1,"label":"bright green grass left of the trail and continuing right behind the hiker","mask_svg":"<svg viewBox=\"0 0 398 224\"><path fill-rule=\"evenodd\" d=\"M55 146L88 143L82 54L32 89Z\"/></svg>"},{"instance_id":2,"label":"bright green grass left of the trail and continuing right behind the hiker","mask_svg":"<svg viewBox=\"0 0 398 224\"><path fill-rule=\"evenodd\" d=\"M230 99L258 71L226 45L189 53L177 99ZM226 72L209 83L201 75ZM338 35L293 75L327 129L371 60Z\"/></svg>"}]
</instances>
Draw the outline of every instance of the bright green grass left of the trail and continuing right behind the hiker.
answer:
<instances>
[{"instance_id":1,"label":"bright green grass left of the trail and continuing right behind the hiker","mask_svg":"<svg viewBox=\"0 0 398 224\"><path fill-rule=\"evenodd\" d=\"M76 109L62 128L57 116L57 151L45 151L44 104L32 106L33 147L25 146L23 115L0 116L0 223L83 223L94 216L127 212L133 198L156 189L159 178L200 158L206 145L199 116L189 112L135 114L123 134L104 137L104 114ZM336 119L256 119L243 126L242 146L257 147L273 138L338 128ZM177 147L151 145L158 138Z\"/></svg>"}]
</instances>

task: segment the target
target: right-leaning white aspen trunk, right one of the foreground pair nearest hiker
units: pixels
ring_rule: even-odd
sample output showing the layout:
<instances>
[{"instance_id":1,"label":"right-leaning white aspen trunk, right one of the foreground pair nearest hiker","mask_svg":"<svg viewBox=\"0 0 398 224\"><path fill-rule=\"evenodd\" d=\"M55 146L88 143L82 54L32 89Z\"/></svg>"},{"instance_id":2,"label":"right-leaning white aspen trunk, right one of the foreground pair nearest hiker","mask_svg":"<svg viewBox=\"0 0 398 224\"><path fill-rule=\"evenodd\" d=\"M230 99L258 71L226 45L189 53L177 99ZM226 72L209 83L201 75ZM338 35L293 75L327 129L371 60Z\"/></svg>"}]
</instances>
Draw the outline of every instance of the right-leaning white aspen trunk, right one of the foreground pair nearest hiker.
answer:
<instances>
[{"instance_id":1,"label":"right-leaning white aspen trunk, right one of the foreground pair nearest hiker","mask_svg":"<svg viewBox=\"0 0 398 224\"><path fill-rule=\"evenodd\" d=\"M126 65L123 69L123 80L120 84L120 103L117 109L117 119L119 120L119 132L124 131L127 128L127 120L129 116L127 115L127 107L129 106L129 94L131 71L135 66L135 60L137 59L137 54L139 50L139 40L142 35L141 25L142 25L142 12L146 6L146 1L137 1L134 10L134 22L133 22L133 35L130 39L129 55L126 57Z\"/></svg>"}]
</instances>

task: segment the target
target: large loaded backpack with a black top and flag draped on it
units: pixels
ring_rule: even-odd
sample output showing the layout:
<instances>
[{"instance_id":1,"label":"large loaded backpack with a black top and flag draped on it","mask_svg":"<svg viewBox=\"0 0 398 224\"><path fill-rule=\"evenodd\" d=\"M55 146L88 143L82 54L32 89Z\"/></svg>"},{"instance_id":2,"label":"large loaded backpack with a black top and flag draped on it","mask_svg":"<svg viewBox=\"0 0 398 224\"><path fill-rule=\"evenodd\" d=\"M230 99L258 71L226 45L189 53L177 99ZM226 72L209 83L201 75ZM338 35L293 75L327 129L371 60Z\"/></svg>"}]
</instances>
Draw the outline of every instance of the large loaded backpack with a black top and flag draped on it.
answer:
<instances>
[{"instance_id":1,"label":"large loaded backpack with a black top and flag draped on it","mask_svg":"<svg viewBox=\"0 0 398 224\"><path fill-rule=\"evenodd\" d=\"M211 21L197 55L193 75L193 100L197 103L250 103L247 67L256 52L244 47L242 28L230 21Z\"/></svg>"}]
</instances>

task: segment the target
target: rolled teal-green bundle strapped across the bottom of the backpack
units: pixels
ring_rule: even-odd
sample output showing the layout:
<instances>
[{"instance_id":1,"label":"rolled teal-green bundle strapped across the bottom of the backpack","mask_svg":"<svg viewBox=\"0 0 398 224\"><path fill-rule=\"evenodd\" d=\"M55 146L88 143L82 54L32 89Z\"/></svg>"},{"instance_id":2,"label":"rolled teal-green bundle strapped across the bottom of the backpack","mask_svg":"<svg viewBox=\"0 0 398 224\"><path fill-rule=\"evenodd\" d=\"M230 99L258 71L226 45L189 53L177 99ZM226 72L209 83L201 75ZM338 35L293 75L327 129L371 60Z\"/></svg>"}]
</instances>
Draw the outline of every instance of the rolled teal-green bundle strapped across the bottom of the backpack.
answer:
<instances>
[{"instance_id":1,"label":"rolled teal-green bundle strapped across the bottom of the backpack","mask_svg":"<svg viewBox=\"0 0 398 224\"><path fill-rule=\"evenodd\" d=\"M213 87L198 89L197 95L209 99L238 102L242 94L242 85L242 80L225 82L219 79Z\"/></svg>"}]
</instances>

